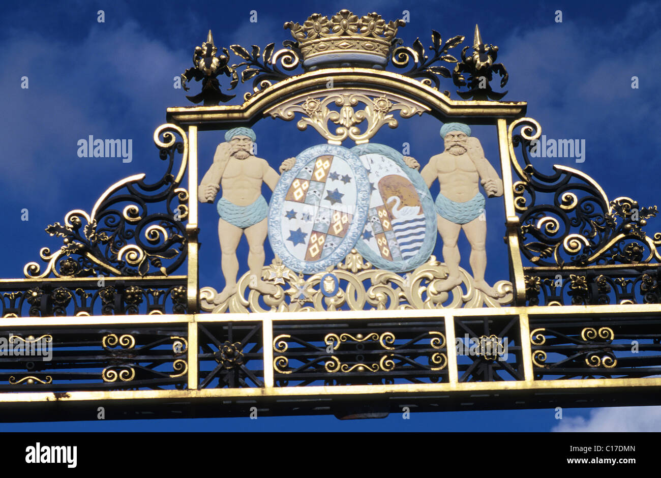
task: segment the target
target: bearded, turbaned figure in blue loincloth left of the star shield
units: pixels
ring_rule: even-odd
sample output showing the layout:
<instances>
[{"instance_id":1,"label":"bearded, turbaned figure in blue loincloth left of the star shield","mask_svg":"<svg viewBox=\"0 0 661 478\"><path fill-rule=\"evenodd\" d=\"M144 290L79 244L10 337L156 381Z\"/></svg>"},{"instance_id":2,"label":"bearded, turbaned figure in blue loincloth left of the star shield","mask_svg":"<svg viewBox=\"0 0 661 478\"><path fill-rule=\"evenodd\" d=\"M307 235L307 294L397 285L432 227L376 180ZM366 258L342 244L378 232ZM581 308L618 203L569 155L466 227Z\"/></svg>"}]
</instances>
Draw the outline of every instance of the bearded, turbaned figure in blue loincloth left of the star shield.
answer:
<instances>
[{"instance_id":1,"label":"bearded, turbaned figure in blue loincloth left of the star shield","mask_svg":"<svg viewBox=\"0 0 661 478\"><path fill-rule=\"evenodd\" d=\"M239 260L237 247L241 236L248 241L248 266L251 272L250 288L261 294L276 294L273 284L262 281L264 266L264 240L266 240L268 203L262 196L262 182L274 190L280 175L265 159L254 157L256 136L250 128L233 128L225 132L225 142L215 150L214 163L198 187L200 202L213 203L219 189L223 195L217 202L218 239L221 250L221 269L225 288L214 303L223 303L237 292ZM296 159L289 158L280 165L280 173L292 169ZM254 276L254 277L253 277Z\"/></svg>"}]
</instances>

